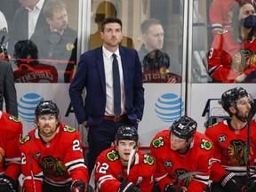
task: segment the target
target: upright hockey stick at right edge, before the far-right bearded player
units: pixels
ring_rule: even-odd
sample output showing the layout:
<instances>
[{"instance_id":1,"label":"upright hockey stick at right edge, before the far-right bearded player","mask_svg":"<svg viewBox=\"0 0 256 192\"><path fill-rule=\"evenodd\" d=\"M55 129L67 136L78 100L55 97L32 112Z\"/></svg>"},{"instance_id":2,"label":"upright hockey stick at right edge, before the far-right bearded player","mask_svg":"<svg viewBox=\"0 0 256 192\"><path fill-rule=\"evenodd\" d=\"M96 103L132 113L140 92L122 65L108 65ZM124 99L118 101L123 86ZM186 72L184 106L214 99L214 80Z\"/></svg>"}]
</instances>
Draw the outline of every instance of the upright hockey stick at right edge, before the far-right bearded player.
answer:
<instances>
[{"instance_id":1,"label":"upright hockey stick at right edge, before the far-right bearded player","mask_svg":"<svg viewBox=\"0 0 256 192\"><path fill-rule=\"evenodd\" d=\"M252 97L251 95L249 97ZM247 117L247 143L246 143L246 189L245 191L247 191L247 189L249 188L249 180L250 180L250 146L251 146L251 121L252 121L252 117L255 115L256 113L256 108L255 108L255 103L251 102L251 110L249 111L248 117Z\"/></svg>"}]
</instances>

